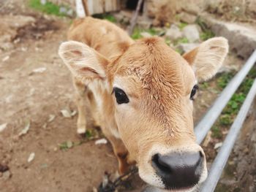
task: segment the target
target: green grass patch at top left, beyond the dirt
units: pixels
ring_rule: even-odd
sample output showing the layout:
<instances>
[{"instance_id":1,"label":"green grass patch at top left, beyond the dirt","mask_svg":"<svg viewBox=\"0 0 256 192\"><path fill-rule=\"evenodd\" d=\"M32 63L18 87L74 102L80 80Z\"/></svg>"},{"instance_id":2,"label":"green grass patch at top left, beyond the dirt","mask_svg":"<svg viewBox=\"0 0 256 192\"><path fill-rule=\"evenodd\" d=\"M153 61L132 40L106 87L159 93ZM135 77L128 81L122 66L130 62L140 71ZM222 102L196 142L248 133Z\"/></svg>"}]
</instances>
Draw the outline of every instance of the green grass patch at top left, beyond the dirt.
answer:
<instances>
[{"instance_id":1,"label":"green grass patch at top left, beyond the dirt","mask_svg":"<svg viewBox=\"0 0 256 192\"><path fill-rule=\"evenodd\" d=\"M40 0L29 0L29 7L36 9L37 11L44 12L48 15L56 15L59 17L67 16L65 13L59 11L59 5L53 4L49 1L47 1L45 4L41 4ZM67 6L62 7L69 9Z\"/></svg>"}]
</instances>

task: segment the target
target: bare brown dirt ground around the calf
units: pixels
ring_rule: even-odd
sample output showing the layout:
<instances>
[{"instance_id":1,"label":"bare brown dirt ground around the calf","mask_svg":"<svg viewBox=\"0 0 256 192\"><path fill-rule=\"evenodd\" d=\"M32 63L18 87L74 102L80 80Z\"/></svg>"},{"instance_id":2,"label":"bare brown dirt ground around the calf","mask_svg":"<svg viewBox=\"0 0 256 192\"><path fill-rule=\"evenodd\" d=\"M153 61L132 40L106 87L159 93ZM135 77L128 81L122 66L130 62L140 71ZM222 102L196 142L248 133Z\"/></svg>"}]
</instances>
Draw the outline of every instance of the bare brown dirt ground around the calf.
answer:
<instances>
[{"instance_id":1,"label":"bare brown dirt ground around the calf","mask_svg":"<svg viewBox=\"0 0 256 192\"><path fill-rule=\"evenodd\" d=\"M57 54L70 20L45 18L21 7L15 14L33 16L37 24L20 29L14 47L0 52L0 125L7 123L0 133L0 165L9 168L8 174L0 172L0 191L92 191L105 172L115 174L117 161L109 143L95 145L93 140L59 148L63 142L82 140L76 134L77 115L64 118L60 112L76 110L70 73ZM13 10L17 8L1 10L1 15ZM211 89L200 92L195 121L216 97ZM28 121L29 131L18 136ZM35 156L28 162L31 153ZM135 175L130 191L143 185Z\"/></svg>"}]
</instances>

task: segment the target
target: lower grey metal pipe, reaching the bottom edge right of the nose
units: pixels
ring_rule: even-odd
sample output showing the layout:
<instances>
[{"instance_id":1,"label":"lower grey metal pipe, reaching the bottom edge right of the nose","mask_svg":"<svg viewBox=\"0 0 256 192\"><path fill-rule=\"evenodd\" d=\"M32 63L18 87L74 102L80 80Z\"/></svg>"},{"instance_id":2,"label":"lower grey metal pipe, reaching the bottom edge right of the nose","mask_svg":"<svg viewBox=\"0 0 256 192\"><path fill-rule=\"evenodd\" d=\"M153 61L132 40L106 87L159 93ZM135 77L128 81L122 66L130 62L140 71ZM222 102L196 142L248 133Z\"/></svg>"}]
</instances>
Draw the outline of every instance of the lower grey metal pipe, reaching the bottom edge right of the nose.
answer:
<instances>
[{"instance_id":1,"label":"lower grey metal pipe, reaching the bottom edge right of the nose","mask_svg":"<svg viewBox=\"0 0 256 192\"><path fill-rule=\"evenodd\" d=\"M211 169L209 171L207 180L205 183L203 183L202 187L200 188L201 192L214 191L219 181L219 177L222 174L222 170L224 169L225 164L227 163L227 159L231 153L233 145L236 142L236 138L238 137L239 131L244 123L249 108L251 107L252 101L255 98L255 95L256 79L248 95L246 96L244 104L242 105L241 110L239 110L236 120L233 122L230 131L228 132L227 137L223 142L222 147L220 148L219 153L217 154L217 157L214 160L214 163L211 165Z\"/></svg>"}]
</instances>

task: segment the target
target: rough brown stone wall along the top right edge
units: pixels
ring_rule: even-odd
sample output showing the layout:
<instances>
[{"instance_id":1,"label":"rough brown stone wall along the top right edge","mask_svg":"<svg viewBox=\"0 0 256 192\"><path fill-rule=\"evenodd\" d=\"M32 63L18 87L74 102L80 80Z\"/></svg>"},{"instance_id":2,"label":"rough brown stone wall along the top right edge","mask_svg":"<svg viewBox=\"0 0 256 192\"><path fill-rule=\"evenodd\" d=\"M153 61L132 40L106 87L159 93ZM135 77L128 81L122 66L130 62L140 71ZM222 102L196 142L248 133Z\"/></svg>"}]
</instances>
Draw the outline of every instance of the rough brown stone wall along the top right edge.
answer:
<instances>
[{"instance_id":1,"label":"rough brown stone wall along the top right edge","mask_svg":"<svg viewBox=\"0 0 256 192\"><path fill-rule=\"evenodd\" d=\"M211 12L225 20L248 21L256 19L255 0L146 0L148 17L154 18L155 25L172 23L180 12L200 15Z\"/></svg>"}]
</instances>

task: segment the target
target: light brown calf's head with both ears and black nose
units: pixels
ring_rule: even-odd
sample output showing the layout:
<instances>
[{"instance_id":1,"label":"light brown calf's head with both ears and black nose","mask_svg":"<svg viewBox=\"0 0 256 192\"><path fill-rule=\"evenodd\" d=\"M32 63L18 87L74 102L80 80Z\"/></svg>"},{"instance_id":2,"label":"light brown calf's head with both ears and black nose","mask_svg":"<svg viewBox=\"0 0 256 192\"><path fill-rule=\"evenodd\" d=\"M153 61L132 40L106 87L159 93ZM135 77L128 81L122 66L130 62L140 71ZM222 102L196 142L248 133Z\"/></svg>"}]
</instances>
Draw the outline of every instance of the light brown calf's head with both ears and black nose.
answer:
<instances>
[{"instance_id":1,"label":"light brown calf's head with both ears and black nose","mask_svg":"<svg viewBox=\"0 0 256 192\"><path fill-rule=\"evenodd\" d=\"M151 37L113 61L80 42L64 42L59 54L81 80L108 82L118 132L140 177L159 188L192 191L207 177L192 101L197 81L217 73L227 50L227 40L216 37L181 56Z\"/></svg>"}]
</instances>

